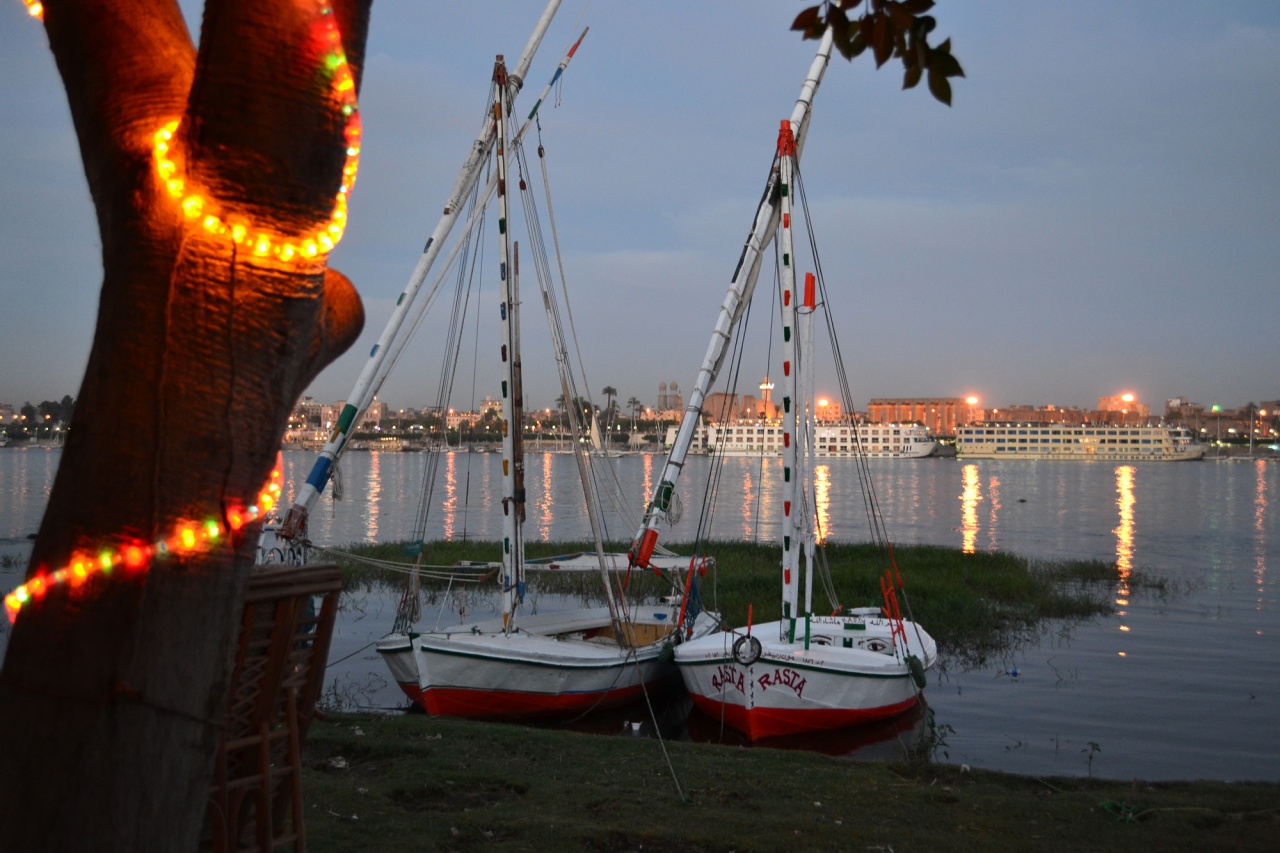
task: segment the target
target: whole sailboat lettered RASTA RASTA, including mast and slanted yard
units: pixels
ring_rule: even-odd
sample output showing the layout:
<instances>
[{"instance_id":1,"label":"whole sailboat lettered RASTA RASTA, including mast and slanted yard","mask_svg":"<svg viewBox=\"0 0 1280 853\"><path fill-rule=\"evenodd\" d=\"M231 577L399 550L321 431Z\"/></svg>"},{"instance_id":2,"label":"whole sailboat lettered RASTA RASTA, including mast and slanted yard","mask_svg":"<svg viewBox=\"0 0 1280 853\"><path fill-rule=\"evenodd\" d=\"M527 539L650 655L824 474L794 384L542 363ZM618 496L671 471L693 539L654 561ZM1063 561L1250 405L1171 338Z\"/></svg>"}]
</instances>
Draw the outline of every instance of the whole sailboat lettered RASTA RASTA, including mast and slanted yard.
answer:
<instances>
[{"instance_id":1,"label":"whole sailboat lettered RASTA RASTA, including mast and slanted yard","mask_svg":"<svg viewBox=\"0 0 1280 853\"><path fill-rule=\"evenodd\" d=\"M792 202L799 141L804 138L809 105L829 47L828 35L796 110L790 120L782 122L777 158L755 227L723 302L690 409L664 470L664 482L655 491L645 526L634 546L637 562L643 565L655 544L658 523L666 517L668 496L698 425L701 400L719 371L723 347L754 291L760 254L776 232L786 380L778 543L782 617L692 638L675 649L676 665L694 704L753 740L837 729L901 713L916 704L925 670L937 660L934 640L919 625L902 619L899 607L901 579L896 566L882 581L883 607L844 610L836 605L831 615L815 613L813 608L814 571L822 569L815 561L820 543L812 461L817 444L813 324L815 314L826 310L827 300L813 274L805 277L803 286L796 282ZM823 291L820 300L819 289ZM828 324L828 329L833 329L833 324ZM891 549L887 553L892 557Z\"/></svg>"}]
</instances>

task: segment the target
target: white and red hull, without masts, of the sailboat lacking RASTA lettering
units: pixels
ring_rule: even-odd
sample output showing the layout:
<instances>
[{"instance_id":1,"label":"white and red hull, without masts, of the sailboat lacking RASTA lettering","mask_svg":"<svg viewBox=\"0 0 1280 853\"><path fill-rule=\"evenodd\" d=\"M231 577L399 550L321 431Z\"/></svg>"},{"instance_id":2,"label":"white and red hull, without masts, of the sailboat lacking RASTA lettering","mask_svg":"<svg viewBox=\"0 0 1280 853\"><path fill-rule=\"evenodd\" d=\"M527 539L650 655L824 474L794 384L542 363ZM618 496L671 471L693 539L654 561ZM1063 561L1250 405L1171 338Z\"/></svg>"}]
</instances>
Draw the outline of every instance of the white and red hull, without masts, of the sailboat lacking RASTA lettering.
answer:
<instances>
[{"instance_id":1,"label":"white and red hull, without masts, of the sailboat lacking RASTA lettering","mask_svg":"<svg viewBox=\"0 0 1280 853\"><path fill-rule=\"evenodd\" d=\"M474 720L575 715L635 699L676 678L672 608L637 608L620 644L608 610L543 613L502 631L500 621L416 635L392 634L378 651L404 694L428 713ZM699 615L694 635L714 628Z\"/></svg>"}]
</instances>

